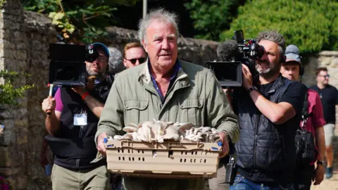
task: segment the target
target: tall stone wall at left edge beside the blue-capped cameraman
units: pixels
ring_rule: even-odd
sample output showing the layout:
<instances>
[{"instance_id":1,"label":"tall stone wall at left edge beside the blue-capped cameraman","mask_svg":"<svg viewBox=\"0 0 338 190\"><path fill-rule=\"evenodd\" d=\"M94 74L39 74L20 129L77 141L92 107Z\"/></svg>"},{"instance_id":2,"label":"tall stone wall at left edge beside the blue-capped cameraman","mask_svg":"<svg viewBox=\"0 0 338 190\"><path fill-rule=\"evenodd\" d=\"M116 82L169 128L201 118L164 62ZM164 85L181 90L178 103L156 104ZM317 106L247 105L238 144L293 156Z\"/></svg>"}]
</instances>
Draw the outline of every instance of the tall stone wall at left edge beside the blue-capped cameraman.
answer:
<instances>
[{"instance_id":1,"label":"tall stone wall at left edge beside the blue-capped cameraman","mask_svg":"<svg viewBox=\"0 0 338 190\"><path fill-rule=\"evenodd\" d=\"M49 178L39 165L44 134L41 102L48 95L48 44L54 32L44 16L23 11L19 0L7 1L0 13L0 69L28 72L15 84L35 84L20 108L1 110L4 134L0 137L0 176L13 189L47 189Z\"/></svg>"}]
</instances>

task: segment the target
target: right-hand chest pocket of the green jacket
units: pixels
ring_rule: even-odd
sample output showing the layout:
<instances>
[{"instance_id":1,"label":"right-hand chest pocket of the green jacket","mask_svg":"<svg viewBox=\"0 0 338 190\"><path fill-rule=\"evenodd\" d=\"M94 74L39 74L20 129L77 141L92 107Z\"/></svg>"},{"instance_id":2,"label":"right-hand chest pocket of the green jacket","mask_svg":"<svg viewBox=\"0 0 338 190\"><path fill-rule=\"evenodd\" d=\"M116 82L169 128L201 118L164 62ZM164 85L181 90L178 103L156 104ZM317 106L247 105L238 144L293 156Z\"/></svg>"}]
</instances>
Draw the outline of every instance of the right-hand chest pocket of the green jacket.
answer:
<instances>
[{"instance_id":1,"label":"right-hand chest pocket of the green jacket","mask_svg":"<svg viewBox=\"0 0 338 190\"><path fill-rule=\"evenodd\" d=\"M180 122L191 122L196 127L204 125L203 103L203 99L179 99Z\"/></svg>"}]
</instances>

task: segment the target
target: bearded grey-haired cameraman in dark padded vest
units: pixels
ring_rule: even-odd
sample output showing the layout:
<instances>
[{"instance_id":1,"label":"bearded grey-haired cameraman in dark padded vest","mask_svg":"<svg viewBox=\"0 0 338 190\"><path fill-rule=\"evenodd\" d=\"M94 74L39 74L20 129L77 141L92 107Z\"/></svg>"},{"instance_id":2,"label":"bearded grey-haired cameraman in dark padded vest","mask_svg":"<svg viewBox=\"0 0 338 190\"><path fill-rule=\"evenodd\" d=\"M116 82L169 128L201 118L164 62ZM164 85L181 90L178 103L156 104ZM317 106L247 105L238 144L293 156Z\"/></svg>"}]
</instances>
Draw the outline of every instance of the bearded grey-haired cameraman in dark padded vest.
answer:
<instances>
[{"instance_id":1,"label":"bearded grey-haired cameraman in dark padded vest","mask_svg":"<svg viewBox=\"0 0 338 190\"><path fill-rule=\"evenodd\" d=\"M259 76L253 80L242 64L242 88L232 94L240 137L235 145L238 172L230 189L293 189L294 141L307 88L280 74L282 34L261 32L257 42L265 49L255 63Z\"/></svg>"}]
</instances>

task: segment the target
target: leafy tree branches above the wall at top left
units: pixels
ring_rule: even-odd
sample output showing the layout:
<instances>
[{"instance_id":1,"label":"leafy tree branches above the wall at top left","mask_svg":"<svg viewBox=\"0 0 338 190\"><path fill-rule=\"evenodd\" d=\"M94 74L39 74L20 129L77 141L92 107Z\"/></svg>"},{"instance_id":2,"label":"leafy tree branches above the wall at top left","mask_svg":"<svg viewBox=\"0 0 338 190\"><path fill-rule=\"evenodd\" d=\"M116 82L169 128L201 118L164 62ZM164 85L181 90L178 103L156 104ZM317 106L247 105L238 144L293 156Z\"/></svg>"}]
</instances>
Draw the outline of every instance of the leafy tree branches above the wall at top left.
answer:
<instances>
[{"instance_id":1,"label":"leafy tree branches above the wall at top left","mask_svg":"<svg viewBox=\"0 0 338 190\"><path fill-rule=\"evenodd\" d=\"M44 13L53 20L65 39L84 43L104 37L108 23L114 23L114 6L130 6L139 0L25 0L25 10Z\"/></svg>"}]
</instances>

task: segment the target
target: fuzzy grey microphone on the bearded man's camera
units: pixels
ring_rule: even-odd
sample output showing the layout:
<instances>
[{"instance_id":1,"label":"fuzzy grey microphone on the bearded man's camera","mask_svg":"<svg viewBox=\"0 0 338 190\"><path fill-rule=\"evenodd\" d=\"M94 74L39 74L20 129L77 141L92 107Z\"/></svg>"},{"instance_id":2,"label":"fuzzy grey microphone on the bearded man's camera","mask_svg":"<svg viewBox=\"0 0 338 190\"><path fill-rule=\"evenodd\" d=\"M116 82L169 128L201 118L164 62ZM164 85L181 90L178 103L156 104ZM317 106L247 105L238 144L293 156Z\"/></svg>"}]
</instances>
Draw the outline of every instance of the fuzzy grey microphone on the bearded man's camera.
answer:
<instances>
[{"instance_id":1,"label":"fuzzy grey microphone on the bearded man's camera","mask_svg":"<svg viewBox=\"0 0 338 190\"><path fill-rule=\"evenodd\" d=\"M238 53L238 43L233 39L228 39L217 47L217 56L221 61L234 61Z\"/></svg>"}]
</instances>

